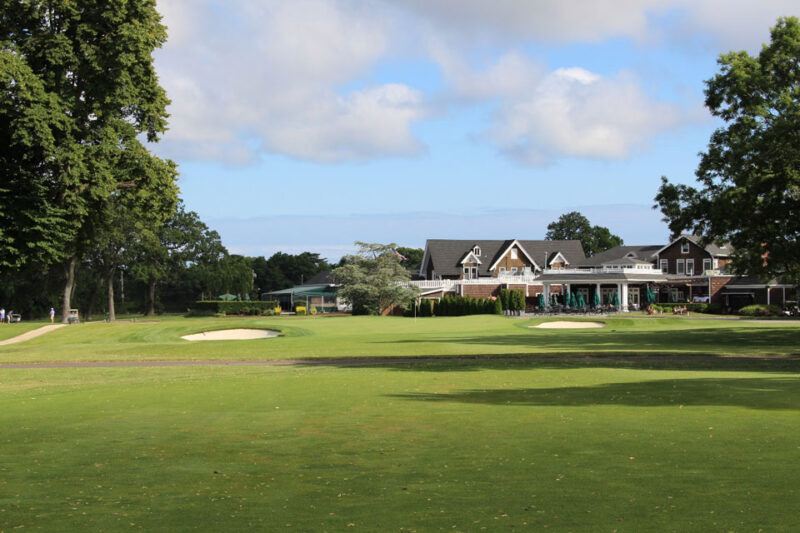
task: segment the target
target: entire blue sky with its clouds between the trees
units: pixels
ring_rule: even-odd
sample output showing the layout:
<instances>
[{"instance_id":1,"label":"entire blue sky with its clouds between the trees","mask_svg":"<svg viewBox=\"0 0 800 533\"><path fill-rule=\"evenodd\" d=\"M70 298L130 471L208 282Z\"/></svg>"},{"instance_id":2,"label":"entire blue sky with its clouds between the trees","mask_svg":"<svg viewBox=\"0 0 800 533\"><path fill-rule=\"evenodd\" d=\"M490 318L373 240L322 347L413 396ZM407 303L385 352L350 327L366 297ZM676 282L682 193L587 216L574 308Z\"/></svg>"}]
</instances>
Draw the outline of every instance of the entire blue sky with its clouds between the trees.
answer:
<instances>
[{"instance_id":1,"label":"entire blue sky with its clouds between the trees","mask_svg":"<svg viewBox=\"0 0 800 533\"><path fill-rule=\"evenodd\" d=\"M234 253L544 236L577 210L663 242L719 53L794 2L161 0L172 105L154 150Z\"/></svg>"}]
</instances>

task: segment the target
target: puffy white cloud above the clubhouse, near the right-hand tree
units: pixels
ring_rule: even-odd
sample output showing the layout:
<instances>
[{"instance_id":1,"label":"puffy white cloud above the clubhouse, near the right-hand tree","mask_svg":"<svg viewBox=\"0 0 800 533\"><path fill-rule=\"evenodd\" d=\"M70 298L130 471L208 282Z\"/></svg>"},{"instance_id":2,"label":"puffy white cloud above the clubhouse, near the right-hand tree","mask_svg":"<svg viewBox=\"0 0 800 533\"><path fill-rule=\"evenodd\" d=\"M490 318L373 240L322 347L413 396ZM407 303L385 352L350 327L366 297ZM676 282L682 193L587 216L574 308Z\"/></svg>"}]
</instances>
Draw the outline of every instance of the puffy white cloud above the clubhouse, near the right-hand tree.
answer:
<instances>
[{"instance_id":1,"label":"puffy white cloud above the clubhouse, near the right-hand tree","mask_svg":"<svg viewBox=\"0 0 800 533\"><path fill-rule=\"evenodd\" d=\"M653 101L628 74L606 78L569 68L549 74L530 95L507 100L487 137L530 165L618 159L680 120L677 108Z\"/></svg>"}]
</instances>

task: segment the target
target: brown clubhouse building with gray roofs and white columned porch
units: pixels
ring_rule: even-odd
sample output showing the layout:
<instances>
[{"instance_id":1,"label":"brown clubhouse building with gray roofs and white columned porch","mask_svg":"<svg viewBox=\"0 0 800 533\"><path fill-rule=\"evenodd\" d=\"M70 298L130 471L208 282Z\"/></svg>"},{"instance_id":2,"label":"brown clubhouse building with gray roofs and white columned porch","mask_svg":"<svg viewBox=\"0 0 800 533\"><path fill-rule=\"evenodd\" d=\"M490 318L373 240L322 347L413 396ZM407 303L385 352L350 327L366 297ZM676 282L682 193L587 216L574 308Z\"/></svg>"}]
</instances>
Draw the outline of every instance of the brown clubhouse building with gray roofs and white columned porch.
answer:
<instances>
[{"instance_id":1,"label":"brown clubhouse building with gray roofs and white columned porch","mask_svg":"<svg viewBox=\"0 0 800 533\"><path fill-rule=\"evenodd\" d=\"M497 296L521 289L529 305L565 292L586 302L608 303L618 295L622 311L639 309L647 289L658 302L707 302L738 309L750 304L783 305L795 288L772 280L735 276L728 271L732 250L702 246L681 235L666 245L617 246L586 257L580 241L449 240L425 244L420 275L411 282L424 298L447 295Z\"/></svg>"}]
</instances>

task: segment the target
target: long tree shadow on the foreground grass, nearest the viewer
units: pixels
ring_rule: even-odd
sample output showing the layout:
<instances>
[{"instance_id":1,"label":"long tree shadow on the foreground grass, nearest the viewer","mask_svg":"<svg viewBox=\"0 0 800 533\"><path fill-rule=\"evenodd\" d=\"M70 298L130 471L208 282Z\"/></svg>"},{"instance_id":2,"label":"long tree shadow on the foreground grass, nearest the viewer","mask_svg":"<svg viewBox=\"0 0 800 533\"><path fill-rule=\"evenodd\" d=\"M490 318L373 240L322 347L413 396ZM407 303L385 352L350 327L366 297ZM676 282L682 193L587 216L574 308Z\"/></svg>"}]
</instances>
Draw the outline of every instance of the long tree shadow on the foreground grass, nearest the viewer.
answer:
<instances>
[{"instance_id":1,"label":"long tree shadow on the foreground grass, nearest the viewer","mask_svg":"<svg viewBox=\"0 0 800 533\"><path fill-rule=\"evenodd\" d=\"M393 394L425 402L529 406L726 406L800 411L800 379L670 379L549 389L466 390L449 394Z\"/></svg>"}]
</instances>

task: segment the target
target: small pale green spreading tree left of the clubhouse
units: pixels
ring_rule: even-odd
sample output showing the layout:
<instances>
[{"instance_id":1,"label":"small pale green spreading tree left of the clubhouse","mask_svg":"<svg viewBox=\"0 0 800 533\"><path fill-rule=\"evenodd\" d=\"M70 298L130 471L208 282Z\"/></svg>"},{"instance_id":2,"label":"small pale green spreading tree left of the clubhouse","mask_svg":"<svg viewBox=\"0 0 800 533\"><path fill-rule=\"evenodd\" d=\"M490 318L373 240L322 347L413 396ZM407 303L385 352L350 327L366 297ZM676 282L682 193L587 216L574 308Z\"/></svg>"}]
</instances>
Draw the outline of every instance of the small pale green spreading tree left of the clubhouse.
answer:
<instances>
[{"instance_id":1,"label":"small pale green spreading tree left of the clubhouse","mask_svg":"<svg viewBox=\"0 0 800 533\"><path fill-rule=\"evenodd\" d=\"M397 245L356 245L358 253L346 256L342 266L331 272L339 285L339 296L353 306L353 314L378 315L416 296L416 291L403 283L409 280L409 274L394 253Z\"/></svg>"}]
</instances>

